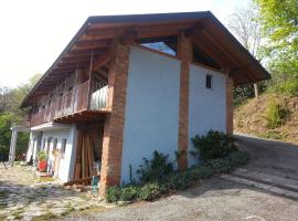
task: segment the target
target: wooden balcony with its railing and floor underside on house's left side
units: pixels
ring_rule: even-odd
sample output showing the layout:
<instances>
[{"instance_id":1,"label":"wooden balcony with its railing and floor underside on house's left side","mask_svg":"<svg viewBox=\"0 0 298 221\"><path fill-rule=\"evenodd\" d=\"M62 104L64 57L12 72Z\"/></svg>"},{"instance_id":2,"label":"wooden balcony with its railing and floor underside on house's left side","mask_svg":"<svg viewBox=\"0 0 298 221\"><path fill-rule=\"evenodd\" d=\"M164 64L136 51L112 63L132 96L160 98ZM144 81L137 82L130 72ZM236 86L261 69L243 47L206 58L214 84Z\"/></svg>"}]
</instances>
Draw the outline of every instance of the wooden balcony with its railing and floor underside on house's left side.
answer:
<instances>
[{"instance_id":1,"label":"wooden balcony with its railing and floor underside on house's left side","mask_svg":"<svg viewBox=\"0 0 298 221\"><path fill-rule=\"evenodd\" d=\"M87 81L56 97L39 113L31 115L30 126L50 122L88 123L100 120L105 113L109 113L108 86Z\"/></svg>"}]
</instances>

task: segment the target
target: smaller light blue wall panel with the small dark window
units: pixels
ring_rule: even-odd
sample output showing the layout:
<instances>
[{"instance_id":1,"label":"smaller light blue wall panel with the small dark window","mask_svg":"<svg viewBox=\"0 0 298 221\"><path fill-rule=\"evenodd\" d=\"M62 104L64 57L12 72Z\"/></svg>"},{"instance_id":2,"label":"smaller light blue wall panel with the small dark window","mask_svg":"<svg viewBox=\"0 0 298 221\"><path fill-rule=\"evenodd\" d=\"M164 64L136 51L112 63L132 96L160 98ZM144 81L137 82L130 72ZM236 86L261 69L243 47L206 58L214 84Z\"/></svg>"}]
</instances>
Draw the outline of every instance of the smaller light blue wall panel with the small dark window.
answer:
<instances>
[{"instance_id":1,"label":"smaller light blue wall panel with the small dark window","mask_svg":"<svg viewBox=\"0 0 298 221\"><path fill-rule=\"evenodd\" d=\"M205 76L211 74L212 88L205 87ZM191 138L205 135L210 129L226 130L225 75L200 66L190 67L189 96L189 150L193 150ZM196 160L189 155L189 166Z\"/></svg>"}]
</instances>

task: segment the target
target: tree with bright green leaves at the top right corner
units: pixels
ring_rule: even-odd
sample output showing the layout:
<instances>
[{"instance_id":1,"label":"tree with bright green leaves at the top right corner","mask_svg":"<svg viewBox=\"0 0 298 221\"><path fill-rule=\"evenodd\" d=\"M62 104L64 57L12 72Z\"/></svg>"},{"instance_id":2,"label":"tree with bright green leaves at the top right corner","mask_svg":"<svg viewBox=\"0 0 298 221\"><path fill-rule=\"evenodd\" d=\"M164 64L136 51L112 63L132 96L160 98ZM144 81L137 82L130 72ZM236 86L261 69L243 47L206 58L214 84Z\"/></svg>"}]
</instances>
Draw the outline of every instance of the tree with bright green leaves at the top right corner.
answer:
<instances>
[{"instance_id":1,"label":"tree with bright green leaves at the top right corner","mask_svg":"<svg viewBox=\"0 0 298 221\"><path fill-rule=\"evenodd\" d=\"M298 85L298 2L297 0L254 0L267 42L264 54L275 82ZM296 85L296 88L298 86ZM295 86L295 85L294 85Z\"/></svg>"}]
</instances>

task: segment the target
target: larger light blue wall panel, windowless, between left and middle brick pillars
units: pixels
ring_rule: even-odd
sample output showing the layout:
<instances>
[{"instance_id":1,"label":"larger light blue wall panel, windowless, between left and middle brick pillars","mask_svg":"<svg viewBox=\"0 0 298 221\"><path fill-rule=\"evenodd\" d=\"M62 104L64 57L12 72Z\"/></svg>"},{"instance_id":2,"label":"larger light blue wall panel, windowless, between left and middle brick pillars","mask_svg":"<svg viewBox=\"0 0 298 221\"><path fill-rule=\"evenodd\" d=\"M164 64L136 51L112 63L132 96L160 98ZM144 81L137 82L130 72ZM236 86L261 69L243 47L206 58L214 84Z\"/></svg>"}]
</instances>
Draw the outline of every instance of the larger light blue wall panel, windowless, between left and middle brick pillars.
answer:
<instances>
[{"instance_id":1,"label":"larger light blue wall panel, windowless, between left and middle brick pillars","mask_svg":"<svg viewBox=\"0 0 298 221\"><path fill-rule=\"evenodd\" d=\"M178 149L180 62L131 48L126 98L121 181L129 182L153 150L174 159Z\"/></svg>"}]
</instances>

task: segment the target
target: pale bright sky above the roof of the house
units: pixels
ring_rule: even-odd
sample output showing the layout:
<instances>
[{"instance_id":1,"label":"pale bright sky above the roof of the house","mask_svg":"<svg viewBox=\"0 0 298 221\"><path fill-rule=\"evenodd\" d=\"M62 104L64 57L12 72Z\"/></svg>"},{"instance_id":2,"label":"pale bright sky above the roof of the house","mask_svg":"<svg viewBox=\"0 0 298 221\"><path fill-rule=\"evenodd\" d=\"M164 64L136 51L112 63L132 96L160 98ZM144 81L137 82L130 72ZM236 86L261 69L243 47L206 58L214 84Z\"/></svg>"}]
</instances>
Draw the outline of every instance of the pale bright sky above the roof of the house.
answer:
<instances>
[{"instance_id":1,"label":"pale bright sky above the roof of the house","mask_svg":"<svg viewBox=\"0 0 298 221\"><path fill-rule=\"evenodd\" d=\"M0 87L43 74L89 15L212 11L220 21L248 0L1 0Z\"/></svg>"}]
</instances>

